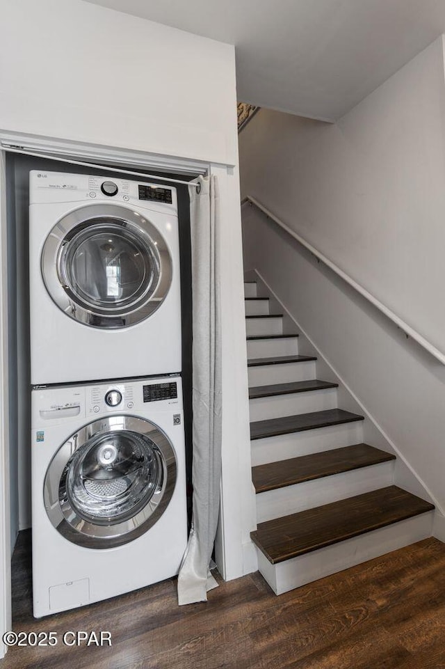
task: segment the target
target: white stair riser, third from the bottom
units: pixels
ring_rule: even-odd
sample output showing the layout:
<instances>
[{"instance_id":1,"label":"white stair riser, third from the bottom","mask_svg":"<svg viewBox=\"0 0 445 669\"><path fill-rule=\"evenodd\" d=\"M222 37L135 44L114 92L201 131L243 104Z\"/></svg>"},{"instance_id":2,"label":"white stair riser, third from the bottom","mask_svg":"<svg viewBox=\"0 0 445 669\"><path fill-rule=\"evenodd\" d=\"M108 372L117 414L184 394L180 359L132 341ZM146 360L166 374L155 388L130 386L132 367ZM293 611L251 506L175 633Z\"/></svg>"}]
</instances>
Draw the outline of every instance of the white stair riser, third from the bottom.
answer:
<instances>
[{"instance_id":1,"label":"white stair riser, third from the bottom","mask_svg":"<svg viewBox=\"0 0 445 669\"><path fill-rule=\"evenodd\" d=\"M267 439L254 439L250 442L252 466L362 443L362 422L358 420L354 423L317 427L316 430L270 436Z\"/></svg>"}]
</instances>

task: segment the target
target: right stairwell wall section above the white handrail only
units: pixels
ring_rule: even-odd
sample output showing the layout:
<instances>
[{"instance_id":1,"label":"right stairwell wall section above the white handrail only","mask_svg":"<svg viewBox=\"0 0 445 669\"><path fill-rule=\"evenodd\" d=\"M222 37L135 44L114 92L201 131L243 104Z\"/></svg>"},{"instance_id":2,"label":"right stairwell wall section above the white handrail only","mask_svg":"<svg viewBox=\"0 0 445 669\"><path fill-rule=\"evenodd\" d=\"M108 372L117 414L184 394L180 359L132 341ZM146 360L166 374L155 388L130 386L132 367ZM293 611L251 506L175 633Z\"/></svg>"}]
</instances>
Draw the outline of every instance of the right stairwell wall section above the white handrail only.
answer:
<instances>
[{"instance_id":1,"label":"right stairwell wall section above the white handrail only","mask_svg":"<svg viewBox=\"0 0 445 669\"><path fill-rule=\"evenodd\" d=\"M445 352L442 37L336 125L261 110L240 136L253 195Z\"/></svg>"}]
</instances>

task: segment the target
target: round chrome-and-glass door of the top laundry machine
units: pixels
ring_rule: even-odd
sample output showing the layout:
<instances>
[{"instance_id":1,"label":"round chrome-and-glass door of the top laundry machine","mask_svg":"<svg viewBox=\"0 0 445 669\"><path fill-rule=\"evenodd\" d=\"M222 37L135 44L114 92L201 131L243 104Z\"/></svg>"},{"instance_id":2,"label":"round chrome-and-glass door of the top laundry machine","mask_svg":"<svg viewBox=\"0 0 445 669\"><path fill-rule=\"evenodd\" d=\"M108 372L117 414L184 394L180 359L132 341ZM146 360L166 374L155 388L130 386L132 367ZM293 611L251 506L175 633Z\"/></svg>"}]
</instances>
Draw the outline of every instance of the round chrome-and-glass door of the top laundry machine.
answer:
<instances>
[{"instance_id":1,"label":"round chrome-and-glass door of the top laundry machine","mask_svg":"<svg viewBox=\"0 0 445 669\"><path fill-rule=\"evenodd\" d=\"M138 323L162 304L172 280L167 244L128 207L88 205L60 219L42 251L51 299L91 327Z\"/></svg>"}]
</instances>

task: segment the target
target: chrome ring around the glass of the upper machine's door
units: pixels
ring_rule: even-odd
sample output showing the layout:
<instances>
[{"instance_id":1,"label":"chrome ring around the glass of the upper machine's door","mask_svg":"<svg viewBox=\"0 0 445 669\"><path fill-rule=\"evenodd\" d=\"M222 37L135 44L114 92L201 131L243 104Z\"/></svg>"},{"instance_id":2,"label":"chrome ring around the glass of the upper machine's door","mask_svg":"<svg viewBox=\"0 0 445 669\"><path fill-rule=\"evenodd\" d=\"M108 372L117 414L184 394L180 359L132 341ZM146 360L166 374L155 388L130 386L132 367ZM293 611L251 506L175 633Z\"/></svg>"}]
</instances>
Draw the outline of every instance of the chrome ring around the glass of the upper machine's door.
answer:
<instances>
[{"instance_id":1,"label":"chrome ring around the glass of the upper machine's door","mask_svg":"<svg viewBox=\"0 0 445 669\"><path fill-rule=\"evenodd\" d=\"M152 290L146 290L136 302L124 308L97 308L79 299L67 285L61 269L65 246L76 237L76 230L80 233L94 226L95 219L104 218L111 219L122 230L129 230L159 265L159 279ZM172 283L172 259L165 239L143 215L122 205L85 205L63 216L44 242L40 269L45 288L58 308L72 319L99 329L122 329L145 320L161 306ZM99 324L95 322L97 319Z\"/></svg>"}]
</instances>

